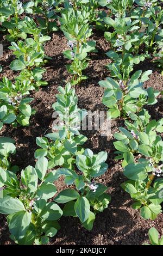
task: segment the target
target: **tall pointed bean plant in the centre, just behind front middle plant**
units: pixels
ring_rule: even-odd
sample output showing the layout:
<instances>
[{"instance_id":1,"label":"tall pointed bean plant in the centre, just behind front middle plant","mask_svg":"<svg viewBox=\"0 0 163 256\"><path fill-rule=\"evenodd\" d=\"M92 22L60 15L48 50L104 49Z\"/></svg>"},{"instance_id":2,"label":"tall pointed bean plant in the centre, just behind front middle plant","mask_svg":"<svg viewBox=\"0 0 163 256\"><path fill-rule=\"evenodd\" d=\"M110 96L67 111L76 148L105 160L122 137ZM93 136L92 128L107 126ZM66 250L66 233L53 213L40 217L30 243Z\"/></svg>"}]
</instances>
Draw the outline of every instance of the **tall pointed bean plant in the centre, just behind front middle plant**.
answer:
<instances>
[{"instance_id":1,"label":"tall pointed bean plant in the centre, just behind front middle plant","mask_svg":"<svg viewBox=\"0 0 163 256\"><path fill-rule=\"evenodd\" d=\"M80 135L80 122L86 116L85 109L77 106L78 98L71 84L67 83L65 89L58 87L60 94L57 94L57 102L52 107L55 110L56 119L53 125L53 133L48 133L46 138L36 138L36 144L41 147L35 151L35 157L47 156L49 167L63 166L72 168L74 157L83 153L81 147L87 140ZM48 139L52 142L49 142Z\"/></svg>"}]
</instances>

